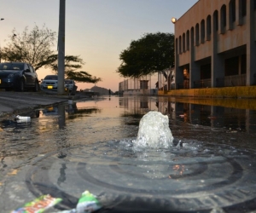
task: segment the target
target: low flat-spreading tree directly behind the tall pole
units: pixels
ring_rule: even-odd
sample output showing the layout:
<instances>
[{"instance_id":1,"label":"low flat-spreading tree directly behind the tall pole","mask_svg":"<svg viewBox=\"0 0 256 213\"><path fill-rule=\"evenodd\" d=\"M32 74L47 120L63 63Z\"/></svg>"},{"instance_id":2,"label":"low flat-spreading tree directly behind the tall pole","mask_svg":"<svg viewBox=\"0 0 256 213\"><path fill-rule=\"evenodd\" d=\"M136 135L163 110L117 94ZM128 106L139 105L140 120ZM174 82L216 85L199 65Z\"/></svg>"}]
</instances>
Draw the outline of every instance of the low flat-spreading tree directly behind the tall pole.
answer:
<instances>
[{"instance_id":1,"label":"low flat-spreading tree directly behind the tall pole","mask_svg":"<svg viewBox=\"0 0 256 213\"><path fill-rule=\"evenodd\" d=\"M66 55L65 56L65 78L73 79L76 82L97 83L102 81L101 78L96 78L90 75L88 72L80 71L75 72L84 65L83 59L78 55ZM51 69L55 74L58 72L58 55L49 55L44 61L40 62L38 66L45 66Z\"/></svg>"}]
</instances>

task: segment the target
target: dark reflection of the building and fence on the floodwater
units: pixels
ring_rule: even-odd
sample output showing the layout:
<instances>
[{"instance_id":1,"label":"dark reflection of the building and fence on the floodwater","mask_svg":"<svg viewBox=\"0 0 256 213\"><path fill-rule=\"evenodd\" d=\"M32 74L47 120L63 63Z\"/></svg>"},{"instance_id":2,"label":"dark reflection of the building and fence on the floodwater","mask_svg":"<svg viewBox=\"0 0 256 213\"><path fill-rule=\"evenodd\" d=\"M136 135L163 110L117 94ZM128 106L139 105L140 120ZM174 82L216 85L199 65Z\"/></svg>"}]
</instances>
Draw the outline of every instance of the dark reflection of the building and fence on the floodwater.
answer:
<instances>
[{"instance_id":1,"label":"dark reflection of the building and fence on the floodwater","mask_svg":"<svg viewBox=\"0 0 256 213\"><path fill-rule=\"evenodd\" d=\"M253 105L248 103L247 100L195 101L148 96L124 96L119 99L119 107L127 109L124 112L125 116L142 117L146 112L156 110L169 115L173 122L253 132L256 130L256 110ZM216 104L216 106L210 104Z\"/></svg>"}]
</instances>

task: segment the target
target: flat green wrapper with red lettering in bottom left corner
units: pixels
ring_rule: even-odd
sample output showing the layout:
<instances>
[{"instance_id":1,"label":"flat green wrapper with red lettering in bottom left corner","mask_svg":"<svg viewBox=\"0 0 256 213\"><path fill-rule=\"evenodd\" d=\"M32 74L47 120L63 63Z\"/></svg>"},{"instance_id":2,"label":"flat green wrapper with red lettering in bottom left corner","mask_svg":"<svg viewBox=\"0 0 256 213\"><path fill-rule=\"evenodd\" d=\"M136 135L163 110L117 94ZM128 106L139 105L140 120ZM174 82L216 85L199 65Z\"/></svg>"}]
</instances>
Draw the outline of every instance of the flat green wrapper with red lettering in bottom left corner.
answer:
<instances>
[{"instance_id":1,"label":"flat green wrapper with red lettering in bottom left corner","mask_svg":"<svg viewBox=\"0 0 256 213\"><path fill-rule=\"evenodd\" d=\"M42 213L50 207L61 202L62 199L55 199L49 194L42 195L32 202L26 203L23 207L11 211L11 213Z\"/></svg>"}]
</instances>

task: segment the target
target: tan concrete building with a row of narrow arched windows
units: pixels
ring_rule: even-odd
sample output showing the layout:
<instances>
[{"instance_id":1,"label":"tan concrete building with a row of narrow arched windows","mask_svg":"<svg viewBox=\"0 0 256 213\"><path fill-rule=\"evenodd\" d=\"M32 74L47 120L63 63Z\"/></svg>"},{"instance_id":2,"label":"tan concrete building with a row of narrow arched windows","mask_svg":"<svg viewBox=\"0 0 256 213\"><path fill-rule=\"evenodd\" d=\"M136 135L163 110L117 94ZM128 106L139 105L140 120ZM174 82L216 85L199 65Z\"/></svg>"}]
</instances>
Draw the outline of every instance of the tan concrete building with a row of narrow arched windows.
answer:
<instances>
[{"instance_id":1,"label":"tan concrete building with a row of narrow arched windows","mask_svg":"<svg viewBox=\"0 0 256 213\"><path fill-rule=\"evenodd\" d=\"M256 84L256 1L199 0L175 25L175 89Z\"/></svg>"}]
</instances>

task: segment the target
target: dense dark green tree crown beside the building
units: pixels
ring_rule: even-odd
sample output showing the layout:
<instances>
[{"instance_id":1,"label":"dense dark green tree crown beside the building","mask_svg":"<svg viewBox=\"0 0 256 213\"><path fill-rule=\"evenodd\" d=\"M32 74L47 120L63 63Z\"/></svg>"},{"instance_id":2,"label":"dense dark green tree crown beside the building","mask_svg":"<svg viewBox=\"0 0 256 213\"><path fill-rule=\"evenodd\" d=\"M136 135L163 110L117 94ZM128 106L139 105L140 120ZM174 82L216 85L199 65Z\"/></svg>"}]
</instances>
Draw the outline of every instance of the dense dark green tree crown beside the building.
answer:
<instances>
[{"instance_id":1,"label":"dense dark green tree crown beside the building","mask_svg":"<svg viewBox=\"0 0 256 213\"><path fill-rule=\"evenodd\" d=\"M146 33L119 55L122 60L117 72L123 77L138 78L174 65L174 35Z\"/></svg>"}]
</instances>

